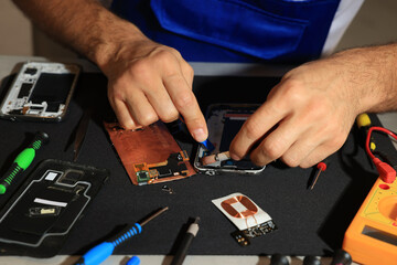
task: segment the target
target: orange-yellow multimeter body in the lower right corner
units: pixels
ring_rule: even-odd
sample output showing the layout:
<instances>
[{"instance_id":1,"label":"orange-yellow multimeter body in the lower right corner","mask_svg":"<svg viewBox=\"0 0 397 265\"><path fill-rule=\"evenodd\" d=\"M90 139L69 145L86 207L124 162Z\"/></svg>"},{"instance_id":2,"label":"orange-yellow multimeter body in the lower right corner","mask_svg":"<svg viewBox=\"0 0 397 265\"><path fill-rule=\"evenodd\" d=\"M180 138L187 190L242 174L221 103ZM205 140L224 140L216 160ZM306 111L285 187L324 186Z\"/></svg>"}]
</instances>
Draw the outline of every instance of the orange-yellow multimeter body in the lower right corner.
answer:
<instances>
[{"instance_id":1,"label":"orange-yellow multimeter body in the lower right corner","mask_svg":"<svg viewBox=\"0 0 397 265\"><path fill-rule=\"evenodd\" d=\"M377 179L345 233L343 250L361 264L397 264L397 181Z\"/></svg>"}]
</instances>

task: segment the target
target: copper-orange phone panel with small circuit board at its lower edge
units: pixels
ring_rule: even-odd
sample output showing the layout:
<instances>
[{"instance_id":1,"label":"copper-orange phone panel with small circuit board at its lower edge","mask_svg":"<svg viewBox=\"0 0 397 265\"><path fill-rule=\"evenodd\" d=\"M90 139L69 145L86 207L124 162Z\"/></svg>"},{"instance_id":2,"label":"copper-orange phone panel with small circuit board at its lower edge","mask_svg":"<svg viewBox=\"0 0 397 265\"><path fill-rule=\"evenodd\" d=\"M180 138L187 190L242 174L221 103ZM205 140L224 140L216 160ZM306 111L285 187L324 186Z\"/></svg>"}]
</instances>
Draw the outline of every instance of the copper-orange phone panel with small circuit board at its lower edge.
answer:
<instances>
[{"instance_id":1,"label":"copper-orange phone panel with small circuit board at its lower edge","mask_svg":"<svg viewBox=\"0 0 397 265\"><path fill-rule=\"evenodd\" d=\"M153 184L195 174L186 152L163 123L137 130L105 123L105 128L133 184Z\"/></svg>"}]
</instances>

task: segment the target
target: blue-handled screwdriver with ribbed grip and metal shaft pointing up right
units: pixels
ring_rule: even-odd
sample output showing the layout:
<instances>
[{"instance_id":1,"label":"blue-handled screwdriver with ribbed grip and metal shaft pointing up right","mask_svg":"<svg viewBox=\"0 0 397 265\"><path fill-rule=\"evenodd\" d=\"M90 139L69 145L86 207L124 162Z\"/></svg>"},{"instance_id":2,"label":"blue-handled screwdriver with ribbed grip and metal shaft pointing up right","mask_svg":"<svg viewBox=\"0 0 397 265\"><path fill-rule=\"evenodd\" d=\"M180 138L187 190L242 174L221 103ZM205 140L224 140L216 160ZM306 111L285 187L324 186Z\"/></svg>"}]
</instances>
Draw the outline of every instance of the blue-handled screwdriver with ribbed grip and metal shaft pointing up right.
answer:
<instances>
[{"instance_id":1,"label":"blue-handled screwdriver with ribbed grip and metal shaft pointing up right","mask_svg":"<svg viewBox=\"0 0 397 265\"><path fill-rule=\"evenodd\" d=\"M128 225L120 233L112 236L108 241L100 243L99 245L90 248L86 254L84 254L75 265L98 265L104 262L108 256L112 254L115 247L124 243L126 240L129 240L133 235L140 234L142 232L142 226L149 223L151 220L155 219L163 212L165 212L169 208L165 206L154 212L152 215L143 220L141 223L135 223L132 225Z\"/></svg>"}]
</instances>

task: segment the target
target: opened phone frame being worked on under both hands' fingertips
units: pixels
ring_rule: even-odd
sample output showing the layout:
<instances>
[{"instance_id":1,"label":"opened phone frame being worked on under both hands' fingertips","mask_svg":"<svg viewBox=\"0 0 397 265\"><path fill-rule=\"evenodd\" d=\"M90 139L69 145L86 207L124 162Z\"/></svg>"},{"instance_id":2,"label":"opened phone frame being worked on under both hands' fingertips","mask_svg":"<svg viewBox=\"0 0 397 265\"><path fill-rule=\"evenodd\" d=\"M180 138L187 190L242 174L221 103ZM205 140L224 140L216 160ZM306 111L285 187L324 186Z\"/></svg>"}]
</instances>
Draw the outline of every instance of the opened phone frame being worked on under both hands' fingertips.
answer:
<instances>
[{"instance_id":1,"label":"opened phone frame being worked on under both hands' fingertips","mask_svg":"<svg viewBox=\"0 0 397 265\"><path fill-rule=\"evenodd\" d=\"M265 167L255 166L249 158L234 161L228 157L228 148L243 124L259 107L256 104L216 104L208 107L206 121L208 126L208 140L215 149L208 151L204 146L197 148L194 168L206 174L219 172L259 173ZM208 159L213 163L208 163ZM203 159L204 158L204 159Z\"/></svg>"}]
</instances>

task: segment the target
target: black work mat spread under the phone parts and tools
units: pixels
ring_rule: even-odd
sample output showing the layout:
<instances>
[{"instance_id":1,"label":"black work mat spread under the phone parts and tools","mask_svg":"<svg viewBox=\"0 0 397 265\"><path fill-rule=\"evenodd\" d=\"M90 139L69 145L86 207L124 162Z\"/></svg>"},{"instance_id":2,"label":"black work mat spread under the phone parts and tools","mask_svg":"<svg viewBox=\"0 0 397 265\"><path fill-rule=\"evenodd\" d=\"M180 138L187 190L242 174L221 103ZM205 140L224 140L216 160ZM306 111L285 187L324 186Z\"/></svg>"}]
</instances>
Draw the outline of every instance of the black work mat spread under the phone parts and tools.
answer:
<instances>
[{"instance_id":1,"label":"black work mat spread under the phone parts and tools","mask_svg":"<svg viewBox=\"0 0 397 265\"><path fill-rule=\"evenodd\" d=\"M278 81L269 77L196 76L194 89L204 109L211 103L261 103ZM8 84L7 81L2 83L1 95ZM106 86L103 75L83 74L69 113L58 124L0 120L0 173L7 171L36 130L50 135L50 142L39 150L28 169L31 172L44 159L71 161L73 148L65 151L65 147L84 109L93 110L77 162L110 169L111 176L85 216L71 231L61 254L83 254L125 224L169 206L168 212L143 227L142 234L117 247L116 254L173 254L189 219L200 216L200 231L190 254L326 255L341 247L345 230L376 180L374 168L358 146L358 137L351 134L344 147L331 157L328 170L320 176L312 191L307 187L314 169L287 168L282 163L272 163L257 176L196 174L169 182L174 194L164 192L162 184L132 186L103 128L103 118L109 108ZM375 117L373 121L378 123ZM192 142L180 140L182 147L192 152ZM377 147L394 151L386 137L379 137ZM278 231L254 239L249 246L240 247L230 236L236 227L211 202L234 192L249 197L268 212Z\"/></svg>"}]
</instances>

